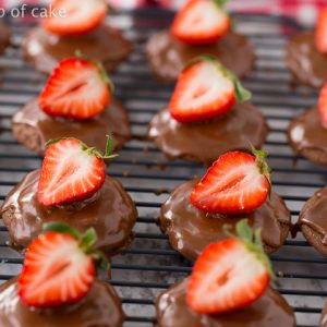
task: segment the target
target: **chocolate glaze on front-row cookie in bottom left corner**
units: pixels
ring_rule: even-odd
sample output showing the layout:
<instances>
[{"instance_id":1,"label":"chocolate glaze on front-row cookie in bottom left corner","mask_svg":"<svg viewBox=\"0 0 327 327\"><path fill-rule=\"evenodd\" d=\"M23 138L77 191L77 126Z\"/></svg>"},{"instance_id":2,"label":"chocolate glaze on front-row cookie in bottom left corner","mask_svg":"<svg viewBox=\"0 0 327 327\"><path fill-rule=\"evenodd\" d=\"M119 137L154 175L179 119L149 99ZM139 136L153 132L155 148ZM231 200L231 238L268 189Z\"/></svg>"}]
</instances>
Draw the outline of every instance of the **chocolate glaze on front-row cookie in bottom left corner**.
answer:
<instances>
[{"instance_id":1,"label":"chocolate glaze on front-row cookie in bottom left corner","mask_svg":"<svg viewBox=\"0 0 327 327\"><path fill-rule=\"evenodd\" d=\"M0 286L1 327L120 327L125 315L114 289L95 280L89 293L74 305L31 310L17 294L17 278Z\"/></svg>"}]
</instances>

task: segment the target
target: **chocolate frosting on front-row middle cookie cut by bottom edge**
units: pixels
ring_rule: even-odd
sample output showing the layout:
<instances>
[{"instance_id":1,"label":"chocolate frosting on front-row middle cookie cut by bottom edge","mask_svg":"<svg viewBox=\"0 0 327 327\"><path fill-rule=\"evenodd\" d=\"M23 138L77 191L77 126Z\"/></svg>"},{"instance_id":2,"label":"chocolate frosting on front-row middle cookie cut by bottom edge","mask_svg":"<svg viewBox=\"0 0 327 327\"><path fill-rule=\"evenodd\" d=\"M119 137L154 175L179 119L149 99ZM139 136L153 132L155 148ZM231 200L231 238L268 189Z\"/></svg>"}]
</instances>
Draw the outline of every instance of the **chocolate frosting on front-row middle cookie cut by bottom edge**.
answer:
<instances>
[{"instance_id":1,"label":"chocolate frosting on front-row middle cookie cut by bottom edge","mask_svg":"<svg viewBox=\"0 0 327 327\"><path fill-rule=\"evenodd\" d=\"M251 305L220 315L197 314L185 302L187 279L174 284L157 300L158 327L295 327L292 308L270 288Z\"/></svg>"}]
</instances>

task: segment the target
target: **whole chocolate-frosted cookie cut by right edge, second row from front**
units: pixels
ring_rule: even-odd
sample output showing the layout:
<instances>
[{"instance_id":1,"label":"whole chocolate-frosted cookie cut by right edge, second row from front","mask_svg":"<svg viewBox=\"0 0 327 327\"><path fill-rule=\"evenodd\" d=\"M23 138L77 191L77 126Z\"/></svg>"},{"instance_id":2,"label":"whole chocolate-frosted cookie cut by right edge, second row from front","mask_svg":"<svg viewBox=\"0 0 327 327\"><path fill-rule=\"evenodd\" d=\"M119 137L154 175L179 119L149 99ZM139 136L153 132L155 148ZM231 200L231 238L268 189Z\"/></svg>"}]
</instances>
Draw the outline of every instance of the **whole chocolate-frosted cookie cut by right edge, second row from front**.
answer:
<instances>
[{"instance_id":1,"label":"whole chocolate-frosted cookie cut by right edge, second row from front","mask_svg":"<svg viewBox=\"0 0 327 327\"><path fill-rule=\"evenodd\" d=\"M327 187L316 192L303 206L298 228L322 254L327 255Z\"/></svg>"}]
</instances>

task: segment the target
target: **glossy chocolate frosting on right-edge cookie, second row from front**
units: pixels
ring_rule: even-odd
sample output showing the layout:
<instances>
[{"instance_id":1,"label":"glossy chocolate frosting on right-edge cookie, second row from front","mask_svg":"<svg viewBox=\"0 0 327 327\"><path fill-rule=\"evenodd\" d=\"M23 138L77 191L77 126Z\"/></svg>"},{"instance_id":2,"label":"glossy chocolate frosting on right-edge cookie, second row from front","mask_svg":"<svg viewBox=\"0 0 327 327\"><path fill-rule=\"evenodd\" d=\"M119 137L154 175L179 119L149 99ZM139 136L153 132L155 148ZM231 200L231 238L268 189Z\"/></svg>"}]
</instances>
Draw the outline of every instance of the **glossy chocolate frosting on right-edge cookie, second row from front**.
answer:
<instances>
[{"instance_id":1,"label":"glossy chocolate frosting on right-edge cookie, second row from front","mask_svg":"<svg viewBox=\"0 0 327 327\"><path fill-rule=\"evenodd\" d=\"M308 227L322 246L325 247L327 255L327 187L317 191L303 206L298 226Z\"/></svg>"}]
</instances>

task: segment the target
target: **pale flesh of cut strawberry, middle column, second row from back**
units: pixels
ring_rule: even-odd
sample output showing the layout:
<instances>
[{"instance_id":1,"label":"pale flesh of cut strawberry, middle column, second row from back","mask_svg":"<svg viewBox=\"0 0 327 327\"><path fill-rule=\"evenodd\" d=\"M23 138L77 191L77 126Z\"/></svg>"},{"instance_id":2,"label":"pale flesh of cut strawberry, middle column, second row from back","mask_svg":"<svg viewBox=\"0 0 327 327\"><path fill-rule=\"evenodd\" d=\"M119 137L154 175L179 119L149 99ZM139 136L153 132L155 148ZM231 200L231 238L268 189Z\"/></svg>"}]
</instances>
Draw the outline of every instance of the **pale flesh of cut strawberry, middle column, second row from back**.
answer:
<instances>
[{"instance_id":1,"label":"pale flesh of cut strawberry, middle column, second row from back","mask_svg":"<svg viewBox=\"0 0 327 327\"><path fill-rule=\"evenodd\" d=\"M225 76L215 64L202 62L197 64L193 77L184 92L180 94L179 110L192 111L206 105L219 101L219 106L230 101L234 92L233 83Z\"/></svg>"}]
</instances>

